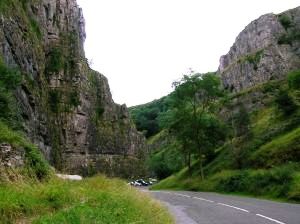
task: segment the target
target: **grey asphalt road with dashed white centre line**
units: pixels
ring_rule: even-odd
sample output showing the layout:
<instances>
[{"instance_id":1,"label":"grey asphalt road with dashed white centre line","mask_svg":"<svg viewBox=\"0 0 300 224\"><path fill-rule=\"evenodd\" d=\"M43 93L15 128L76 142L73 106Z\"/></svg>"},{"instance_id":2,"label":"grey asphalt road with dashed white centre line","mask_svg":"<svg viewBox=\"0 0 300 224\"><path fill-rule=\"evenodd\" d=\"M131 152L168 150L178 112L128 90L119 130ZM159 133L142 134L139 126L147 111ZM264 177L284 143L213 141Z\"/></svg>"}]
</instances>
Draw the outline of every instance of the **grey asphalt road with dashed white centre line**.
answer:
<instances>
[{"instance_id":1,"label":"grey asphalt road with dashed white centre line","mask_svg":"<svg viewBox=\"0 0 300 224\"><path fill-rule=\"evenodd\" d=\"M150 191L178 224L300 224L300 204L187 191Z\"/></svg>"}]
</instances>

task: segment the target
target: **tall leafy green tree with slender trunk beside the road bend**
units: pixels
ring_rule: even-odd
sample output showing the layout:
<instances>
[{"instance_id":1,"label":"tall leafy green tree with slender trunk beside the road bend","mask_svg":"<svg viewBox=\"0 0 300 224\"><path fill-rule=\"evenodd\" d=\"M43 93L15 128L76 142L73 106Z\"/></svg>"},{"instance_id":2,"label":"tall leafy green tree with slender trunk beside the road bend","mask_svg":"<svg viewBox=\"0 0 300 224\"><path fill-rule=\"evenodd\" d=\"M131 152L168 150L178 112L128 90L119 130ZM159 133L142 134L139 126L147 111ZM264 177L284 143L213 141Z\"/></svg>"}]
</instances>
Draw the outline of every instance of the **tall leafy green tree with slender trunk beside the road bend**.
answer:
<instances>
[{"instance_id":1,"label":"tall leafy green tree with slender trunk beside the road bend","mask_svg":"<svg viewBox=\"0 0 300 224\"><path fill-rule=\"evenodd\" d=\"M212 150L224 139L222 124L213 110L214 101L222 93L219 78L215 73L192 73L174 82L173 87L174 112L170 129L189 156L191 153L198 155L200 174L204 179L204 159L213 154Z\"/></svg>"}]
</instances>

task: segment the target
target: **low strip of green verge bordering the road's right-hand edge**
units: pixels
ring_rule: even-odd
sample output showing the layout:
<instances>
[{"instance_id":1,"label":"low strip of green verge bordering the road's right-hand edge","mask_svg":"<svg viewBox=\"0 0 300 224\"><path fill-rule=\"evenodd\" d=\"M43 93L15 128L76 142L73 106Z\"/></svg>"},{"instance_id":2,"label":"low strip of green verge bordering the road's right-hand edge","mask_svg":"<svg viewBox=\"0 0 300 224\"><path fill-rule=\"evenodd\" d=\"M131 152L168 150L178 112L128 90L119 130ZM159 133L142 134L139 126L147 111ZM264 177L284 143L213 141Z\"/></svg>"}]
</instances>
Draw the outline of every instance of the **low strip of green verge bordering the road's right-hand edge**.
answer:
<instances>
[{"instance_id":1,"label":"low strip of green verge bordering the road's right-hand edge","mask_svg":"<svg viewBox=\"0 0 300 224\"><path fill-rule=\"evenodd\" d=\"M272 169L224 170L202 181L187 170L172 175L152 187L153 190L192 190L234 193L268 199L300 202L299 165Z\"/></svg>"}]
</instances>

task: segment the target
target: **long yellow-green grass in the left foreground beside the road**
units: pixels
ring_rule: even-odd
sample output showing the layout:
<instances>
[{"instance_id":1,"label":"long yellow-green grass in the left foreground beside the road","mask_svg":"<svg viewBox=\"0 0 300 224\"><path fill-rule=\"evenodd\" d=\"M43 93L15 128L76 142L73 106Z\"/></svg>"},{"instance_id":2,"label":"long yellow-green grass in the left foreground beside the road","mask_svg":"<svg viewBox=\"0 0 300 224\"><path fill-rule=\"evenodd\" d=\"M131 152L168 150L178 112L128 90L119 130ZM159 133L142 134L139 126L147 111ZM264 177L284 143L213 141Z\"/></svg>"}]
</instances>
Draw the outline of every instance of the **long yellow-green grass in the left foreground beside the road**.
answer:
<instances>
[{"instance_id":1,"label":"long yellow-green grass in the left foreground beside the road","mask_svg":"<svg viewBox=\"0 0 300 224\"><path fill-rule=\"evenodd\" d=\"M103 176L0 185L0 198L4 223L173 223L149 196Z\"/></svg>"}]
</instances>

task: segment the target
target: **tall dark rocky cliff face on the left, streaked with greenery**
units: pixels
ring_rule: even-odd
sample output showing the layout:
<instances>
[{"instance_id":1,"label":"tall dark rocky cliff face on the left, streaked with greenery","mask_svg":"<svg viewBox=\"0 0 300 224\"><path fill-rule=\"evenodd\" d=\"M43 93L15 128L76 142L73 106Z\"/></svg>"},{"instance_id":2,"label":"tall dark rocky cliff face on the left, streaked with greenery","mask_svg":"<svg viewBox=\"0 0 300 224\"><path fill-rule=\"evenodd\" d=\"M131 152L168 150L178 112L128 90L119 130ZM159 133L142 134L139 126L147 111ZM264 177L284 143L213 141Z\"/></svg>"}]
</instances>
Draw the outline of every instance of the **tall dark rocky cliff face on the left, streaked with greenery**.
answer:
<instances>
[{"instance_id":1,"label":"tall dark rocky cliff face on the left, streaked with greenery","mask_svg":"<svg viewBox=\"0 0 300 224\"><path fill-rule=\"evenodd\" d=\"M0 2L0 61L22 73L23 129L59 170L140 175L144 138L89 68L84 25L76 0Z\"/></svg>"}]
</instances>

